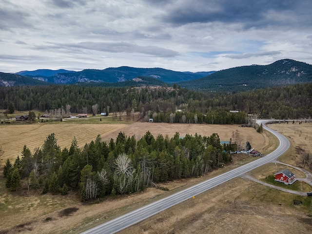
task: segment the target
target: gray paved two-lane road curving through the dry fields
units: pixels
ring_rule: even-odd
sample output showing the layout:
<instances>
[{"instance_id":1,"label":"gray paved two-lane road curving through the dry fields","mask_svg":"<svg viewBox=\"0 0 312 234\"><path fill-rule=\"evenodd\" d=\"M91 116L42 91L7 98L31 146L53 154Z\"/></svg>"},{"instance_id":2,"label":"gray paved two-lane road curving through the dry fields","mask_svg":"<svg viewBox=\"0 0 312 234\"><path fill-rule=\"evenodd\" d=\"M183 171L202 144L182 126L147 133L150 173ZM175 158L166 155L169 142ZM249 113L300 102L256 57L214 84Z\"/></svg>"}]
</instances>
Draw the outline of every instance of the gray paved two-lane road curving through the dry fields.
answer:
<instances>
[{"instance_id":1,"label":"gray paved two-lane road curving through the dry fields","mask_svg":"<svg viewBox=\"0 0 312 234\"><path fill-rule=\"evenodd\" d=\"M290 142L286 137L279 134L278 132L265 126L265 123L272 120L257 120L258 124L263 124L263 128L275 135L279 140L279 146L271 154L259 158L253 162L235 168L229 172L223 173L214 178L210 178L204 182L196 184L193 187L180 191L174 195L167 196L149 205L143 206L133 212L119 216L106 223L102 223L92 229L89 229L83 234L114 234L127 227L130 227L150 216L156 215L157 213L166 210L182 201L192 198L192 196L203 193L209 189L212 189L234 177L241 176L246 172L253 170L256 167L262 166L268 162L275 160L278 156L284 154L290 147Z\"/></svg>"}]
</instances>

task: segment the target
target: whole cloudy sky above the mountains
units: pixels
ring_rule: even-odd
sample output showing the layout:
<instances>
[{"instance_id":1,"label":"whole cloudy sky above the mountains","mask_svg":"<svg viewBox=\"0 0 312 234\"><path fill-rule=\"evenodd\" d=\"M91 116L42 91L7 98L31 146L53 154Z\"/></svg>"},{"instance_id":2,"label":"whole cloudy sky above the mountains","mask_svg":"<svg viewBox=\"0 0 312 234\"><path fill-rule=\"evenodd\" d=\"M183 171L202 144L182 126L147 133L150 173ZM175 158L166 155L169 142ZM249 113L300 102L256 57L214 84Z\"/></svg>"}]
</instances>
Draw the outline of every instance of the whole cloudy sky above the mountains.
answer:
<instances>
[{"instance_id":1,"label":"whole cloudy sky above the mountains","mask_svg":"<svg viewBox=\"0 0 312 234\"><path fill-rule=\"evenodd\" d=\"M311 0L0 0L0 71L312 64Z\"/></svg>"}]
</instances>

